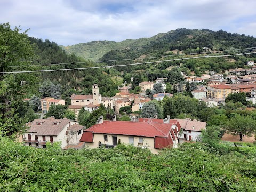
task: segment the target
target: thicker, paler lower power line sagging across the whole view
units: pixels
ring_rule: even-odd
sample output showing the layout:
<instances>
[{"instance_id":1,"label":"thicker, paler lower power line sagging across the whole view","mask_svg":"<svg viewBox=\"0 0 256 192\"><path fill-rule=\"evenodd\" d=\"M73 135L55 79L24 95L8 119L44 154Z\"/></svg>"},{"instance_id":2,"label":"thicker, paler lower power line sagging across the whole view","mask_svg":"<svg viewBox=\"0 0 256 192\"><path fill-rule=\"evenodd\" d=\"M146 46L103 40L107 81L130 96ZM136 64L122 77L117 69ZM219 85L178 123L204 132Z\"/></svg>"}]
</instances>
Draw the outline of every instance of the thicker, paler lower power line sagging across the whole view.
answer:
<instances>
[{"instance_id":1,"label":"thicker, paler lower power line sagging across the whole view","mask_svg":"<svg viewBox=\"0 0 256 192\"><path fill-rule=\"evenodd\" d=\"M248 54L254 54L254 53L256 53L256 52L232 54L232 55L205 55L205 56L197 56L197 57L190 57L190 58L169 59L169 60L163 60L163 61L151 61L151 62L142 62L142 63L130 63L130 64L114 65L114 66L98 66L98 67L84 67L84 68L73 68L73 69L52 69L52 70L34 70L34 71L9 71L9 72L0 72L0 74L35 73L35 72L47 72L47 71L66 71L66 70L80 70L80 69L110 68L110 67L133 66L133 65L150 64L150 63L161 63L161 62L166 62L166 61L187 60L187 59L195 59L195 58L231 57L231 56L248 55Z\"/></svg>"}]
</instances>

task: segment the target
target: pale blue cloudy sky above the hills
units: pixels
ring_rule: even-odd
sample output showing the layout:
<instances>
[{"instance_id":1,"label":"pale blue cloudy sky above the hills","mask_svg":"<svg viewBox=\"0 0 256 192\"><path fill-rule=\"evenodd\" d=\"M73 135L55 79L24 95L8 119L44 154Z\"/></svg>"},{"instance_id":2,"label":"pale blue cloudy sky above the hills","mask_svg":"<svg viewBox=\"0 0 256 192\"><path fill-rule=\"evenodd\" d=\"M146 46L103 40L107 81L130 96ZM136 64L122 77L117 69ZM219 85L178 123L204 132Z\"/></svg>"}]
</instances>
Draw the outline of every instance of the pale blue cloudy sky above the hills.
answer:
<instances>
[{"instance_id":1,"label":"pale blue cloudy sky above the hills","mask_svg":"<svg viewBox=\"0 0 256 192\"><path fill-rule=\"evenodd\" d=\"M178 28L256 37L255 0L0 0L0 23L58 45L152 37Z\"/></svg>"}]
</instances>

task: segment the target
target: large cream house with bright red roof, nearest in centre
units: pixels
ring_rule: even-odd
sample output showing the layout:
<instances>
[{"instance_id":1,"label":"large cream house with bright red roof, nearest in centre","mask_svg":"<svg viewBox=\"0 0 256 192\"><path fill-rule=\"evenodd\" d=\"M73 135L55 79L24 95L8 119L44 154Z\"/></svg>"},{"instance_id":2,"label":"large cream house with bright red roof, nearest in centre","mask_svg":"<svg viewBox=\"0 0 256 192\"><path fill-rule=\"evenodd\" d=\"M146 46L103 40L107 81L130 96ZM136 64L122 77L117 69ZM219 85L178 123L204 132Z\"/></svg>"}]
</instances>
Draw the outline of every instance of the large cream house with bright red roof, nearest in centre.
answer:
<instances>
[{"instance_id":1,"label":"large cream house with bright red roof, nearest in centre","mask_svg":"<svg viewBox=\"0 0 256 192\"><path fill-rule=\"evenodd\" d=\"M103 121L100 116L97 124L84 130L80 139L89 148L115 147L118 142L143 148L152 153L167 147L177 147L180 124L177 120L167 123Z\"/></svg>"}]
</instances>

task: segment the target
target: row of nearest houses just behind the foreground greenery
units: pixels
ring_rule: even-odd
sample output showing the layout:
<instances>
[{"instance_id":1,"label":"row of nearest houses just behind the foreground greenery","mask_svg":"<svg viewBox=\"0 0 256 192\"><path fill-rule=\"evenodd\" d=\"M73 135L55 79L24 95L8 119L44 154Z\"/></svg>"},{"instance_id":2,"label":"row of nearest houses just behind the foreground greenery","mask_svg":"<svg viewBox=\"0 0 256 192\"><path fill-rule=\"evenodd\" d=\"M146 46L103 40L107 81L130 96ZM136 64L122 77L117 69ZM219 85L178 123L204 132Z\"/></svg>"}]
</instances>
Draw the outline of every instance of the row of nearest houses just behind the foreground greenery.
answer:
<instances>
[{"instance_id":1,"label":"row of nearest houses just behind the foreground greenery","mask_svg":"<svg viewBox=\"0 0 256 192\"><path fill-rule=\"evenodd\" d=\"M97 124L84 129L76 121L69 119L35 119L27 124L23 135L26 146L46 147L46 143L60 142L63 149L114 148L118 143L148 148L158 153L163 148L175 148L178 143L200 139L206 122L191 119L146 119L133 118L132 121L105 121L100 116Z\"/></svg>"}]
</instances>

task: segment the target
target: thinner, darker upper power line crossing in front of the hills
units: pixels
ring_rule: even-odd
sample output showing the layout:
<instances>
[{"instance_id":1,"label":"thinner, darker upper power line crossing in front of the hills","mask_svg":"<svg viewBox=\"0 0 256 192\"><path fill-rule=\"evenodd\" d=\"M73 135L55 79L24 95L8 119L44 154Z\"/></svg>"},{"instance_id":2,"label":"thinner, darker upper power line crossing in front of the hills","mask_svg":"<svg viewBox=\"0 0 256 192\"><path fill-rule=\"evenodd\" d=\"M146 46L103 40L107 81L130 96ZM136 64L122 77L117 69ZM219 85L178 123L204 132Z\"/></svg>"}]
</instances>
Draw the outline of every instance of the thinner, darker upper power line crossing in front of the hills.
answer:
<instances>
[{"instance_id":1,"label":"thinner, darker upper power line crossing in front of the hills","mask_svg":"<svg viewBox=\"0 0 256 192\"><path fill-rule=\"evenodd\" d=\"M241 49L232 49L232 50L223 50L224 51L238 51L238 50L254 50L256 47L249 48L241 48ZM213 53L212 51L208 52L199 52L199 53L186 53L186 54L175 54L175 55L162 55L157 57L147 57L147 58L132 58L132 59L116 59L116 60L102 60L102 61L85 61L85 62L69 62L69 63L49 63L49 64L41 64L41 65L23 65L23 66L0 66L0 68L10 68L10 67L33 67L33 66L52 66L52 65L70 65L70 64L82 64L82 63L98 63L98 62L109 62L109 61L127 61L127 60L137 60L137 59L151 59L151 58L165 58L165 57L175 57L175 56L183 56L183 55L194 55L194 54L207 54ZM39 64L39 63L38 63Z\"/></svg>"}]
</instances>

